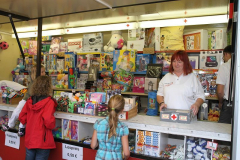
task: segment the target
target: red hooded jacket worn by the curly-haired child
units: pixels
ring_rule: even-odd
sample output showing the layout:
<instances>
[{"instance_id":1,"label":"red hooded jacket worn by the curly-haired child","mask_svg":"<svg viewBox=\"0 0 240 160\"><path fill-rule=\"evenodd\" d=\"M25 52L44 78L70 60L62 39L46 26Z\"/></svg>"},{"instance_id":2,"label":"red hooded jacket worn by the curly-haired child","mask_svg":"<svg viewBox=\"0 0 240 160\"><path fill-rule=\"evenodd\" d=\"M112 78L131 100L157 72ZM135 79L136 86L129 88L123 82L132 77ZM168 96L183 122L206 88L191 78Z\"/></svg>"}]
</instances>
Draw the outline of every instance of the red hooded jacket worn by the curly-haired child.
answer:
<instances>
[{"instance_id":1,"label":"red hooded jacket worn by the curly-haired child","mask_svg":"<svg viewBox=\"0 0 240 160\"><path fill-rule=\"evenodd\" d=\"M52 129L55 128L54 112L57 103L52 97L47 97L33 103L30 97L24 105L19 121L26 124L25 146L28 149L56 148Z\"/></svg>"}]
</instances>

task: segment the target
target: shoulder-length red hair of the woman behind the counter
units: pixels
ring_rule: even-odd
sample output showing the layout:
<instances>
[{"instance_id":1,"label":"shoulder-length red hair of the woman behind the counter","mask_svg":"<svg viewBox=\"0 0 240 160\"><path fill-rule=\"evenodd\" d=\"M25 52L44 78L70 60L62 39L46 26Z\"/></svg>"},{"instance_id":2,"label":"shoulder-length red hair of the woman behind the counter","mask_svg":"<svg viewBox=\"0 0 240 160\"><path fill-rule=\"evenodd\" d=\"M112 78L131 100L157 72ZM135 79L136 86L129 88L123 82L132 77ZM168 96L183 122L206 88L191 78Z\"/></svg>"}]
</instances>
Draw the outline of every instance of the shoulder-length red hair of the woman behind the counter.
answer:
<instances>
[{"instance_id":1,"label":"shoulder-length red hair of the woman behind the counter","mask_svg":"<svg viewBox=\"0 0 240 160\"><path fill-rule=\"evenodd\" d=\"M169 66L169 72L173 74L173 66L172 66L172 63L174 60L181 60L183 61L183 73L184 75L188 75L189 73L192 73L192 66L189 62L189 59L188 59L188 54L183 51L183 50L179 50L179 51L176 51L173 55L172 55L172 58L171 58L171 64Z\"/></svg>"}]
</instances>

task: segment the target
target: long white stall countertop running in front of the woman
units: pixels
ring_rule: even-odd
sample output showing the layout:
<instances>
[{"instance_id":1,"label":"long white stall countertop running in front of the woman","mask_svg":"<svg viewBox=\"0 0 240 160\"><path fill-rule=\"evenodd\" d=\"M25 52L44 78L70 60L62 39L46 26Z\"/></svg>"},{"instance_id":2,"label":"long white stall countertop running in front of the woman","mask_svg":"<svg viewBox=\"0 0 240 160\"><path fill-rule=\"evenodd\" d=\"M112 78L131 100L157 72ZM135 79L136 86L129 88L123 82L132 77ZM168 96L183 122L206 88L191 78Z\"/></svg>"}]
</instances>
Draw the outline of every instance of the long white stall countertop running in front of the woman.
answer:
<instances>
[{"instance_id":1,"label":"long white stall countertop running in front of the woman","mask_svg":"<svg viewBox=\"0 0 240 160\"><path fill-rule=\"evenodd\" d=\"M0 104L0 110L13 111L16 105ZM59 119L77 120L86 123L94 123L102 117L55 112ZM214 140L231 141L231 124L195 121L190 124L161 122L160 117L137 115L127 121L123 121L129 128L156 131L167 134L193 136Z\"/></svg>"}]
</instances>

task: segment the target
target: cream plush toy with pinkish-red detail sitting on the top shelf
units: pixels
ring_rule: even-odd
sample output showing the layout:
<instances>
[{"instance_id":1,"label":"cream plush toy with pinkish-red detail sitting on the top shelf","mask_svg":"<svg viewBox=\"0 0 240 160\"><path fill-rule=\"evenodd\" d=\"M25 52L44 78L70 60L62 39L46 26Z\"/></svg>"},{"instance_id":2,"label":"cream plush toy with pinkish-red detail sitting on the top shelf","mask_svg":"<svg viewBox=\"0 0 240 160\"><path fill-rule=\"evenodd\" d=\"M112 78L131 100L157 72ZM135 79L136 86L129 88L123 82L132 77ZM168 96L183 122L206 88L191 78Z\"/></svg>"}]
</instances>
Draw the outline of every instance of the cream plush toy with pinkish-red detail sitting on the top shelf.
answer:
<instances>
[{"instance_id":1,"label":"cream plush toy with pinkish-red detail sitting on the top shelf","mask_svg":"<svg viewBox=\"0 0 240 160\"><path fill-rule=\"evenodd\" d=\"M107 45L104 46L105 52L112 52L115 49L122 49L122 50L127 49L127 46L125 45L121 31L112 31L111 39L109 40Z\"/></svg>"}]
</instances>

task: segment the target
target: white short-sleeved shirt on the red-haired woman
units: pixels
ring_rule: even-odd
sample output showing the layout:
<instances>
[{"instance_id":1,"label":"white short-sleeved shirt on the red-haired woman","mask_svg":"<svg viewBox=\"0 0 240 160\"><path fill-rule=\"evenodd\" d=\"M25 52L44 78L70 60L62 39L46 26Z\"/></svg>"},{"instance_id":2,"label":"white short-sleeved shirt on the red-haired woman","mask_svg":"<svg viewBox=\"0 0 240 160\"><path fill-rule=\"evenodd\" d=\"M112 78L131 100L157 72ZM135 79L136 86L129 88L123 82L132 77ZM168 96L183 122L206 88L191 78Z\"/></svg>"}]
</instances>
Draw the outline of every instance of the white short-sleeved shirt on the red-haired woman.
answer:
<instances>
[{"instance_id":1,"label":"white short-sleeved shirt on the red-haired woman","mask_svg":"<svg viewBox=\"0 0 240 160\"><path fill-rule=\"evenodd\" d=\"M159 82L157 95L164 97L169 109L189 110L198 98L205 100L201 83L193 73L180 77L166 74Z\"/></svg>"}]
</instances>

